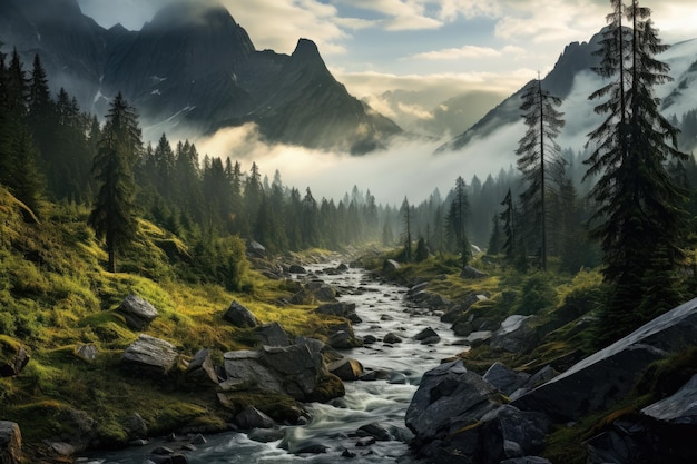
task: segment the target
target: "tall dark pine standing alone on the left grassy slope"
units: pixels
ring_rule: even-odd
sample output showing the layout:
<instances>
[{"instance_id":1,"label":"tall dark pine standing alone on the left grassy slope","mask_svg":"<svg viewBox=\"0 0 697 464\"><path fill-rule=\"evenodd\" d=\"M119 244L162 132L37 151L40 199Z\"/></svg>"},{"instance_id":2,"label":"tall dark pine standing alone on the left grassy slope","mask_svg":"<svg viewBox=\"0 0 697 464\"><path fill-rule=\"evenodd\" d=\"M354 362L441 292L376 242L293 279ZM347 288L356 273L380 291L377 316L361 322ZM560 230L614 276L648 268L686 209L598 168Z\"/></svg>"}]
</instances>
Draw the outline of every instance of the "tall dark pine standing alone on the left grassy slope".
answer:
<instances>
[{"instance_id":1,"label":"tall dark pine standing alone on the left grassy slope","mask_svg":"<svg viewBox=\"0 0 697 464\"><path fill-rule=\"evenodd\" d=\"M134 167L143 141L136 110L119 92L111 101L94 172L101 184L89 223L105 238L108 269L116 273L117 254L127 249L137 233Z\"/></svg>"}]
</instances>

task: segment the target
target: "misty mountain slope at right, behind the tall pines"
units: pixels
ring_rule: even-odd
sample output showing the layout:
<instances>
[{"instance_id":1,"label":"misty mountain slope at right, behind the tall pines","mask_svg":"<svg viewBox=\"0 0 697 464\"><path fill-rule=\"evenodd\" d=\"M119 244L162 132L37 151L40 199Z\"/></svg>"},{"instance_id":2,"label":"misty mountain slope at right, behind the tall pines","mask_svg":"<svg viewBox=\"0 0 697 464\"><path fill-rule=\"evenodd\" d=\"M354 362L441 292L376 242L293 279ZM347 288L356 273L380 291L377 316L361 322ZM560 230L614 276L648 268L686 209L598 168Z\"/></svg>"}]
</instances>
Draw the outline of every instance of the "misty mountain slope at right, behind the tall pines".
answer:
<instances>
[{"instance_id":1,"label":"misty mountain slope at right, behind the tall pines","mask_svg":"<svg viewBox=\"0 0 697 464\"><path fill-rule=\"evenodd\" d=\"M565 112L566 126L558 138L562 148L582 150L587 135L601 121L593 111L597 103L588 99L592 91L603 85L601 78L591 70L598 63L593 51L598 49L600 39L598 33L588 42L567 46L554 68L542 79L542 87L563 100L560 110ZM657 96L662 100L661 111L666 117L675 117L684 132L696 134L697 128L681 127L680 121L688 124L685 116L697 110L697 39L676 43L658 58L670 65L673 77L673 81L656 88ZM436 152L465 150L469 146L487 140L497 140L497 147L501 149L501 140L505 138L503 149L511 154L512 160L519 138L526 130L520 110L521 96L530 85L528 82L471 128L439 147ZM680 149L686 151L695 148L696 138L684 139L680 145Z\"/></svg>"}]
</instances>

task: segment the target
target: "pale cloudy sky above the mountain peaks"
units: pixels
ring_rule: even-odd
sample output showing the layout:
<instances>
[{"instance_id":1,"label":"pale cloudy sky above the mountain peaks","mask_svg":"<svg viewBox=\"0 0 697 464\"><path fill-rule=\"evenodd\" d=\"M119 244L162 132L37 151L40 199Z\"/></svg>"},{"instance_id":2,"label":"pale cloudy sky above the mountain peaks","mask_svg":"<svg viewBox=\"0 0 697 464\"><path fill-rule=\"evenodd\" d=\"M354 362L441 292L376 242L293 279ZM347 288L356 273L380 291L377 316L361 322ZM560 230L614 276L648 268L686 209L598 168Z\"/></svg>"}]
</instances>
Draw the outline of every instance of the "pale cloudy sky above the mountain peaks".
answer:
<instances>
[{"instance_id":1,"label":"pale cloudy sky above the mountain peaks","mask_svg":"<svg viewBox=\"0 0 697 464\"><path fill-rule=\"evenodd\" d=\"M78 0L105 27L140 29L174 0ZM212 1L212 0L190 0ZM357 98L394 89L440 98L518 90L551 70L565 46L605 26L609 0L217 0L256 48L291 53L314 40L332 73ZM644 1L661 38L697 37L694 0ZM440 93L438 92L440 90ZM438 103L438 102L436 102ZM431 109L431 108L429 108Z\"/></svg>"}]
</instances>

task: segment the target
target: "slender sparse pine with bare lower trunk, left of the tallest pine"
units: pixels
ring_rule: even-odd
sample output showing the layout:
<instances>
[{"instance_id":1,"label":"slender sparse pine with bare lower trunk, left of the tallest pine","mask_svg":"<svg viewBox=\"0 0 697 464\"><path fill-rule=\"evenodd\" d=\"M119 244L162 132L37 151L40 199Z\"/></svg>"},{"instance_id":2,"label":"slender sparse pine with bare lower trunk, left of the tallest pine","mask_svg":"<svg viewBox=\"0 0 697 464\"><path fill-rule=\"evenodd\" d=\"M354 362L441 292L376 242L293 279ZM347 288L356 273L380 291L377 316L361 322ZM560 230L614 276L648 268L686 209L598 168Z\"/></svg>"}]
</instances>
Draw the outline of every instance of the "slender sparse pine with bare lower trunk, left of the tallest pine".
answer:
<instances>
[{"instance_id":1,"label":"slender sparse pine with bare lower trunk, left of the tallest pine","mask_svg":"<svg viewBox=\"0 0 697 464\"><path fill-rule=\"evenodd\" d=\"M527 224L539 229L540 267L547 270L547 195L550 187L550 171L562 169L560 147L556 142L565 121L563 113L556 107L561 100L542 90L542 81L537 79L528 86L520 107L528 130L520 139L516 155L518 169L522 172L528 188L520 195L527 213ZM537 235L537 234L534 234ZM537 246L537 244L536 244Z\"/></svg>"}]
</instances>

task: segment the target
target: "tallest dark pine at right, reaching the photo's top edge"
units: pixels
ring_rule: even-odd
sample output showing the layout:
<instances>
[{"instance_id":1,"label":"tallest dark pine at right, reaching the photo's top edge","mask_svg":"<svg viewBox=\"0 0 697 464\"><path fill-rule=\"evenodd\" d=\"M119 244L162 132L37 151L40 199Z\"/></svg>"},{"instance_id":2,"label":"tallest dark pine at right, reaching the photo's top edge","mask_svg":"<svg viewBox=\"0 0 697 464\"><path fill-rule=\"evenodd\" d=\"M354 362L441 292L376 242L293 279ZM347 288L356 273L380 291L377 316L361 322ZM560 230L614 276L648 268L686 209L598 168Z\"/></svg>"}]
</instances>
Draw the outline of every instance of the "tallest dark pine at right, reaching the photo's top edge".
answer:
<instances>
[{"instance_id":1,"label":"tallest dark pine at right, reaching the photo's top edge","mask_svg":"<svg viewBox=\"0 0 697 464\"><path fill-rule=\"evenodd\" d=\"M636 0L628 7L618 0L611 4L596 69L609 82L590 96L607 98L596 107L606 118L589 135L592 152L586 161L586 177L599 176L590 191L598 205L591 233L601 241L610 287L599 322L602 342L629 332L656 308L678 303L669 276L683 257L684 196L667 164L687 158L654 92L670 78L668 65L655 58L668 47L652 27L650 10ZM657 285L664 290L646 292Z\"/></svg>"}]
</instances>

